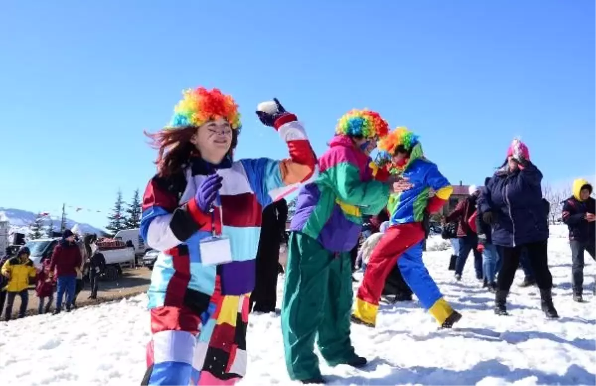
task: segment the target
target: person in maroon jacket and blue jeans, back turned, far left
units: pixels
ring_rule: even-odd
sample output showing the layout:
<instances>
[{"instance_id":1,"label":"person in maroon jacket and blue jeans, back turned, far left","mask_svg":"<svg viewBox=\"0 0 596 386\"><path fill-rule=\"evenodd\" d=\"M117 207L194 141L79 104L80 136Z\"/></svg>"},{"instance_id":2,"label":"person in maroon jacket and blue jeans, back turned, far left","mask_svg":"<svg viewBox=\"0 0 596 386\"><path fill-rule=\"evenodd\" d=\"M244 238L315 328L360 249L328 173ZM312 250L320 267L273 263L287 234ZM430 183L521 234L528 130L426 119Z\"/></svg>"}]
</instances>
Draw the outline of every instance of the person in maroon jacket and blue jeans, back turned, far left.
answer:
<instances>
[{"instance_id":1,"label":"person in maroon jacket and blue jeans, back turned, far left","mask_svg":"<svg viewBox=\"0 0 596 386\"><path fill-rule=\"evenodd\" d=\"M75 244L75 235L67 229L62 235L60 243L54 248L52 262L49 266L50 275L58 277L58 294L56 297L56 310L62 310L62 301L66 293L66 312L70 312L73 298L75 297L77 269L82 264L79 246Z\"/></svg>"}]
</instances>

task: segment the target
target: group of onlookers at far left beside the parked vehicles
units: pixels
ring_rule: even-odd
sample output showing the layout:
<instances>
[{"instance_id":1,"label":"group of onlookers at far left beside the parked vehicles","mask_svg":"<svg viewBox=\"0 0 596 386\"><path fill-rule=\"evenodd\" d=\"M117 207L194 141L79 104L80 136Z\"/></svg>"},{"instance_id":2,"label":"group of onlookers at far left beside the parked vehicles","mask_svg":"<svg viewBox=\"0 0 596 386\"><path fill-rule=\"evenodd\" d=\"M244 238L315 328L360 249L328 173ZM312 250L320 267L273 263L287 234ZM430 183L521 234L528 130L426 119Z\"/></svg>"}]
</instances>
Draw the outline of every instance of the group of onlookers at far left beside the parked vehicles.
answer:
<instances>
[{"instance_id":1,"label":"group of onlookers at far left beside the parked vehicles","mask_svg":"<svg viewBox=\"0 0 596 386\"><path fill-rule=\"evenodd\" d=\"M21 247L13 256L11 248L0 260L0 315L10 320L15 298L20 298L18 317L25 316L29 303L29 285L35 282L38 297L38 313L48 313L54 304L54 314L76 308L76 300L83 290L83 273L91 283L89 298L97 298L98 278L105 269L105 259L97 251L97 236L86 235L83 239L66 230L54 248L52 256L41 262L38 269L33 265L28 247ZM55 303L54 303L54 293ZM6 309L4 305L6 304Z\"/></svg>"}]
</instances>

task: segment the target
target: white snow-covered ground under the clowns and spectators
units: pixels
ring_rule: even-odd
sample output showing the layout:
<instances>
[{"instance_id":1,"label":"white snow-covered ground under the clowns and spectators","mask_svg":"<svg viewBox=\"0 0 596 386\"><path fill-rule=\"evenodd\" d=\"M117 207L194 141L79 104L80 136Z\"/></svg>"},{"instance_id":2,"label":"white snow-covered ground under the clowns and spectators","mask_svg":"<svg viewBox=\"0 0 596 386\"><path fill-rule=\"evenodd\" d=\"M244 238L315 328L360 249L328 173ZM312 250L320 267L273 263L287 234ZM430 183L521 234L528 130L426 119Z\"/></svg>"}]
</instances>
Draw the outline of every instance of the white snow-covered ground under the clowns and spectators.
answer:
<instances>
[{"instance_id":1,"label":"white snow-covered ground under the clowns and spectators","mask_svg":"<svg viewBox=\"0 0 596 386\"><path fill-rule=\"evenodd\" d=\"M322 372L335 385L596 385L596 298L589 291L596 264L586 257L589 303L573 302L566 229L551 231L549 259L560 320L545 320L536 288L515 284L508 307L512 316L496 317L493 296L474 279L472 258L462 281L455 282L446 270L449 251L430 251L424 257L430 273L464 315L457 328L437 330L417 302L385 305L376 329L352 327L353 344L370 359L368 368L322 363ZM429 246L441 242L432 239ZM516 282L521 279L519 271ZM0 323L2 384L138 385L149 339L145 304L140 295L60 316ZM252 315L247 343L249 371L242 385L291 384L278 316Z\"/></svg>"}]
</instances>

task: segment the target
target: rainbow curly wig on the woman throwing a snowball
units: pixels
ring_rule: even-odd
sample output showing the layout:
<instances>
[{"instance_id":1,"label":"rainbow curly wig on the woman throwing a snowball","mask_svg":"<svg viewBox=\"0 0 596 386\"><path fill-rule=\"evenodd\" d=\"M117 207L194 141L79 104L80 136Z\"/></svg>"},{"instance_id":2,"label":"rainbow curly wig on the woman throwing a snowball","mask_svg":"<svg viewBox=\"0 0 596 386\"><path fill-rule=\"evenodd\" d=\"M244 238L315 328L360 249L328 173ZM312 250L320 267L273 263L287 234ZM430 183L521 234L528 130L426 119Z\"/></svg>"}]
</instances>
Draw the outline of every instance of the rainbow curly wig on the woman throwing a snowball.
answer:
<instances>
[{"instance_id":1,"label":"rainbow curly wig on the woman throwing a snowball","mask_svg":"<svg viewBox=\"0 0 596 386\"><path fill-rule=\"evenodd\" d=\"M227 120L232 129L240 129L238 105L231 96L222 94L218 89L187 89L182 91L182 100L174 107L174 115L165 129L198 127L219 118Z\"/></svg>"}]
</instances>

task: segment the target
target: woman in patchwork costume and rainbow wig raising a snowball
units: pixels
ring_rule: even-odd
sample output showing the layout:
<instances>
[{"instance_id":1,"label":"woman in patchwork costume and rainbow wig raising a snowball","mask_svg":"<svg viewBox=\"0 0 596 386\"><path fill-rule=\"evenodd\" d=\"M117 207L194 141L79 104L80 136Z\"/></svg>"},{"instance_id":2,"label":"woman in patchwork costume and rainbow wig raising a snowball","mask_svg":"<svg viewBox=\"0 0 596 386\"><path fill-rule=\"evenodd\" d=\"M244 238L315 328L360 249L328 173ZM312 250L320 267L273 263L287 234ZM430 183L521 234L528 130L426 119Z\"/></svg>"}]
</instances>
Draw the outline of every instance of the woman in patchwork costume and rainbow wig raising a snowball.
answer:
<instances>
[{"instance_id":1,"label":"woman in patchwork costume and rainbow wig raising a snowball","mask_svg":"<svg viewBox=\"0 0 596 386\"><path fill-rule=\"evenodd\" d=\"M289 158L232 160L240 114L218 89L184 91L170 124L150 135L157 175L143 197L141 235L160 254L147 291L152 339L142 385L232 385L246 373L262 210L316 177L296 116L277 99L257 110Z\"/></svg>"}]
</instances>

